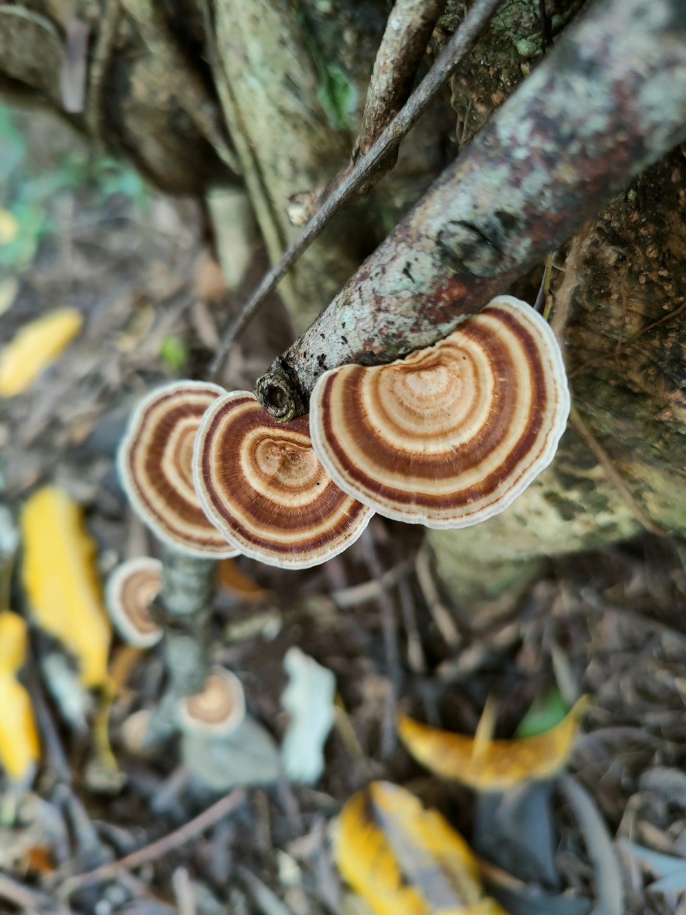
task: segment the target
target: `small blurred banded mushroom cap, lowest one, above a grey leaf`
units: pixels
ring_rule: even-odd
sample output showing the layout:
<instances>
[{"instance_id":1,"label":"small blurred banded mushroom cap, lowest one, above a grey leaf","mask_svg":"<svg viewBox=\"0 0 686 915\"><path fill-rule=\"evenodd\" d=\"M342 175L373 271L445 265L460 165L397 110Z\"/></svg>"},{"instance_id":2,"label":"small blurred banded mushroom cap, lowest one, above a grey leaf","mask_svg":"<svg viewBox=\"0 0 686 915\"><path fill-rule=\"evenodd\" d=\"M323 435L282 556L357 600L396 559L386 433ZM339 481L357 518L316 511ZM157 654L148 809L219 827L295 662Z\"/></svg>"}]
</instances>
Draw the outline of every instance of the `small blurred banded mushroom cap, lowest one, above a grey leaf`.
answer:
<instances>
[{"instance_id":1,"label":"small blurred banded mushroom cap, lowest one, above a grey leaf","mask_svg":"<svg viewBox=\"0 0 686 915\"><path fill-rule=\"evenodd\" d=\"M245 694L241 681L225 667L213 667L202 693L181 700L178 716L186 734L226 737L245 718Z\"/></svg>"}]
</instances>

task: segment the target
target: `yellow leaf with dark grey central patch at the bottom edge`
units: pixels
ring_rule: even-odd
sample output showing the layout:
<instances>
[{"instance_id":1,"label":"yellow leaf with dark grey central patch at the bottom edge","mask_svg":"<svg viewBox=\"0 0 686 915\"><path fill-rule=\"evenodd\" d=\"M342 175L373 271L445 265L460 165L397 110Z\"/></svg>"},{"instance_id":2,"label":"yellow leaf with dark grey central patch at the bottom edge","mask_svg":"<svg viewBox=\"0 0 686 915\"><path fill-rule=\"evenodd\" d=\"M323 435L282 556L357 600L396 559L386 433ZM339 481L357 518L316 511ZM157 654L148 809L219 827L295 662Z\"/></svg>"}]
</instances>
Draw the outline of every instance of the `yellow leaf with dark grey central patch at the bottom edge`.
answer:
<instances>
[{"instance_id":1,"label":"yellow leaf with dark grey central patch at the bottom edge","mask_svg":"<svg viewBox=\"0 0 686 915\"><path fill-rule=\"evenodd\" d=\"M335 855L375 915L504 915L484 896L462 836L390 782L374 781L350 798L338 818Z\"/></svg>"}]
</instances>

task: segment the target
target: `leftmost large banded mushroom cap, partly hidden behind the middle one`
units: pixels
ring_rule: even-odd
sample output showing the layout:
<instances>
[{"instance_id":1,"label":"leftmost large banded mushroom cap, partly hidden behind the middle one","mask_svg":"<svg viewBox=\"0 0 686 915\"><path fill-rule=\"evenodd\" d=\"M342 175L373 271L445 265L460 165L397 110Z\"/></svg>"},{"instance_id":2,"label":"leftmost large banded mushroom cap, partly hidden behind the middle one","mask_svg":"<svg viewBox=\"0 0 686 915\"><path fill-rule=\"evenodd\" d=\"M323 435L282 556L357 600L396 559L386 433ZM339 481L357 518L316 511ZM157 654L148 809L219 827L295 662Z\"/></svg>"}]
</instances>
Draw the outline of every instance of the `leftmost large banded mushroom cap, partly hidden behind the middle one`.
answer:
<instances>
[{"instance_id":1,"label":"leftmost large banded mushroom cap, partly hidden behind the middle one","mask_svg":"<svg viewBox=\"0 0 686 915\"><path fill-rule=\"evenodd\" d=\"M191 458L202 415L225 393L209 382L172 382L149 393L119 447L119 472L134 511L181 553L220 559L234 549L205 517Z\"/></svg>"}]
</instances>

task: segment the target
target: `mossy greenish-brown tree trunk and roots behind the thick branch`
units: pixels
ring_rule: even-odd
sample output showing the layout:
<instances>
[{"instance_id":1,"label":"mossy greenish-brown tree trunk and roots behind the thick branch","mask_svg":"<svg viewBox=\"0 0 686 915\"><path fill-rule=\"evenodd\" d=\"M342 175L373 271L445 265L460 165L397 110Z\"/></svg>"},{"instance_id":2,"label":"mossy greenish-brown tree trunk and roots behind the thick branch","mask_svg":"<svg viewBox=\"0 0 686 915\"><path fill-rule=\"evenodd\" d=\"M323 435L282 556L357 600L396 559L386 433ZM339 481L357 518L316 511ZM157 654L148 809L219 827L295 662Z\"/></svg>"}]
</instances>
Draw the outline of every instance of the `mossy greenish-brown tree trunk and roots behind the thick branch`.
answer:
<instances>
[{"instance_id":1,"label":"mossy greenish-brown tree trunk and roots behind the thick branch","mask_svg":"<svg viewBox=\"0 0 686 915\"><path fill-rule=\"evenodd\" d=\"M464 6L448 3L434 51ZM546 0L541 20L538 0L506 5L453 80L453 108L446 92L391 176L282 285L296 328L327 305L581 6ZM347 161L387 15L384 0L26 0L0 9L0 88L59 109L162 188L247 188L276 258L297 232L289 199L316 192ZM65 113L75 23L89 31L87 81L81 107ZM468 531L429 533L456 605L516 596L549 555L646 525L686 532L684 178L675 151L557 253L553 324L573 422L552 467L508 511ZM536 296L541 269L516 285L520 296Z\"/></svg>"}]
</instances>

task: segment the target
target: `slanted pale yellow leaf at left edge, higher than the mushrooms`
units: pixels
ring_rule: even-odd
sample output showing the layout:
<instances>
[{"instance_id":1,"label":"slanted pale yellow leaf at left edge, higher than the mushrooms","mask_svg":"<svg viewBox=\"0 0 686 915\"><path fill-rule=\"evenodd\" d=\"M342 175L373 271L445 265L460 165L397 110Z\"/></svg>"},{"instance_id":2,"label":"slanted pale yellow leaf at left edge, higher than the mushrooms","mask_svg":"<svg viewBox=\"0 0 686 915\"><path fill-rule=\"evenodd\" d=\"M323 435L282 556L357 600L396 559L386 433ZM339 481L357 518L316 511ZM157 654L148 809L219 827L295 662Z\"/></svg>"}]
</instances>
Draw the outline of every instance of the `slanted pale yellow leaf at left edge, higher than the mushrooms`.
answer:
<instances>
[{"instance_id":1,"label":"slanted pale yellow leaf at left edge, higher than the mushrooms","mask_svg":"<svg viewBox=\"0 0 686 915\"><path fill-rule=\"evenodd\" d=\"M0 350L0 396L26 391L79 333L81 323L75 308L57 308L21 328Z\"/></svg>"}]
</instances>

